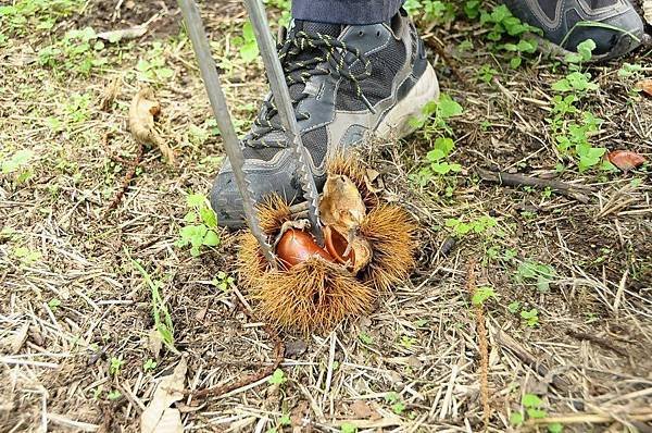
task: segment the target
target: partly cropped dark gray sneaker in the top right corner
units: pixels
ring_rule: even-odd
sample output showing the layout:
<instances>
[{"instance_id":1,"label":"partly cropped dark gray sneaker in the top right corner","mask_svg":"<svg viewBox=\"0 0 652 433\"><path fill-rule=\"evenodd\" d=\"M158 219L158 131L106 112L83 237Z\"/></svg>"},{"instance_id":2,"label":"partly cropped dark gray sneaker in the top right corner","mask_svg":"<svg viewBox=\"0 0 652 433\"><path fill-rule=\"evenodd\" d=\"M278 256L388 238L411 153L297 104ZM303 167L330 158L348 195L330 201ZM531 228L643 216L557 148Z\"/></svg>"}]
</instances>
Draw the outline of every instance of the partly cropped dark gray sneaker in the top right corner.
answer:
<instances>
[{"instance_id":1,"label":"partly cropped dark gray sneaker in the top right corner","mask_svg":"<svg viewBox=\"0 0 652 433\"><path fill-rule=\"evenodd\" d=\"M542 48L575 52L595 42L593 61L627 54L643 40L643 22L629 0L503 0L522 21L543 30Z\"/></svg>"}]
</instances>

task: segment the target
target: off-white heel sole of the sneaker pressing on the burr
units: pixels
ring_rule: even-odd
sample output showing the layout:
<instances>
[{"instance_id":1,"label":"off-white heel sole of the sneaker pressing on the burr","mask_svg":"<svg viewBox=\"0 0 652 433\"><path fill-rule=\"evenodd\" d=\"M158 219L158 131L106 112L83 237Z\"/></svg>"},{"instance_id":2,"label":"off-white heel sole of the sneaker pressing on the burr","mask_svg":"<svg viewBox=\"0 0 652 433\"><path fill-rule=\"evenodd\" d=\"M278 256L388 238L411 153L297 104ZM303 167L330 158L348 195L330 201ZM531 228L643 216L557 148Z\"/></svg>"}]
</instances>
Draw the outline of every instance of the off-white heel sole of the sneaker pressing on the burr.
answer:
<instances>
[{"instance_id":1,"label":"off-white heel sole of the sneaker pressing on the burr","mask_svg":"<svg viewBox=\"0 0 652 433\"><path fill-rule=\"evenodd\" d=\"M410 121L422 115L423 108L430 101L439 99L439 82L435 69L428 63L426 71L401 99L383 117L376 127L375 135L383 139L404 138L418 129Z\"/></svg>"}]
</instances>

